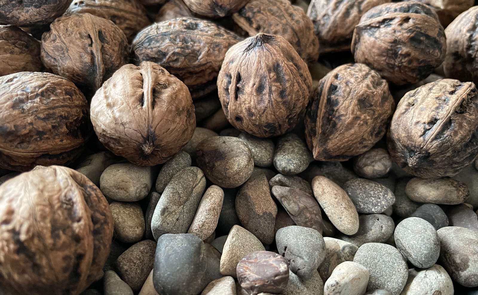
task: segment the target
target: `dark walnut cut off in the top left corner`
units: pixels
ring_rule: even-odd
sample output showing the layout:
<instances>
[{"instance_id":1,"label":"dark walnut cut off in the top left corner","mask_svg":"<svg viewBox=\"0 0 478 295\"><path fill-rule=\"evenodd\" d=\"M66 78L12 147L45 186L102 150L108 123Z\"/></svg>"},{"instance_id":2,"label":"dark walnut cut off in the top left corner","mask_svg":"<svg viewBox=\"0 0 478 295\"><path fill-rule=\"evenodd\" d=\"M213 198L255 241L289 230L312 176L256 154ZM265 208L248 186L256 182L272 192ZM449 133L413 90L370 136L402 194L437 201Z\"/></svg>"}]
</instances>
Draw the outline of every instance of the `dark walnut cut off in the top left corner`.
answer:
<instances>
[{"instance_id":1,"label":"dark walnut cut off in the top left corner","mask_svg":"<svg viewBox=\"0 0 478 295\"><path fill-rule=\"evenodd\" d=\"M52 22L71 0L0 0L0 23L29 27Z\"/></svg>"}]
</instances>

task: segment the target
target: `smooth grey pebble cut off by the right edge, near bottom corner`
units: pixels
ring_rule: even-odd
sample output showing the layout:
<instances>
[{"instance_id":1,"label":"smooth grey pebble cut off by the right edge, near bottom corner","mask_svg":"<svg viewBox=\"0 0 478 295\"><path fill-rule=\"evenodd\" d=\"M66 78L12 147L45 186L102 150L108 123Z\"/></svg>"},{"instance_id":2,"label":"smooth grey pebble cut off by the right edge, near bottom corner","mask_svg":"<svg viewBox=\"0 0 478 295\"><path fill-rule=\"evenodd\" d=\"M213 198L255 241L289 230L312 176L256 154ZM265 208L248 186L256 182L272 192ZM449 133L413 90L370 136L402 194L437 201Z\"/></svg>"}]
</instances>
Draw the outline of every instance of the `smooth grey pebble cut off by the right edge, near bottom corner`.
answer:
<instances>
[{"instance_id":1,"label":"smooth grey pebble cut off by the right edge, near bottom corner","mask_svg":"<svg viewBox=\"0 0 478 295\"><path fill-rule=\"evenodd\" d=\"M438 231L438 262L455 282L465 287L478 286L478 232L457 226Z\"/></svg>"}]
</instances>

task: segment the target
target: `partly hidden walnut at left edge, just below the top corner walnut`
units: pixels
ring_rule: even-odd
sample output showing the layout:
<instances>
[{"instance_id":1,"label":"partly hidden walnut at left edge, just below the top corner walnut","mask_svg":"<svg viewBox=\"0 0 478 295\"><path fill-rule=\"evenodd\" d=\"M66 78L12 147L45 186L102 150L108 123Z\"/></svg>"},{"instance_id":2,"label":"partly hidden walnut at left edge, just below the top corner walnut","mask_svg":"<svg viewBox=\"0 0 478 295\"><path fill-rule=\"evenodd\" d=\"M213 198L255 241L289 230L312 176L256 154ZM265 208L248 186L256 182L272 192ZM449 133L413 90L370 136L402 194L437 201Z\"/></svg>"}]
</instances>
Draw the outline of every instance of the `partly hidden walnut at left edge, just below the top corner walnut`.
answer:
<instances>
[{"instance_id":1,"label":"partly hidden walnut at left edge, just below the top corner walnut","mask_svg":"<svg viewBox=\"0 0 478 295\"><path fill-rule=\"evenodd\" d=\"M18 72L40 72L40 42L14 26L0 25L0 76Z\"/></svg>"}]
</instances>

